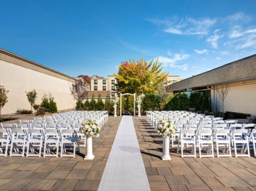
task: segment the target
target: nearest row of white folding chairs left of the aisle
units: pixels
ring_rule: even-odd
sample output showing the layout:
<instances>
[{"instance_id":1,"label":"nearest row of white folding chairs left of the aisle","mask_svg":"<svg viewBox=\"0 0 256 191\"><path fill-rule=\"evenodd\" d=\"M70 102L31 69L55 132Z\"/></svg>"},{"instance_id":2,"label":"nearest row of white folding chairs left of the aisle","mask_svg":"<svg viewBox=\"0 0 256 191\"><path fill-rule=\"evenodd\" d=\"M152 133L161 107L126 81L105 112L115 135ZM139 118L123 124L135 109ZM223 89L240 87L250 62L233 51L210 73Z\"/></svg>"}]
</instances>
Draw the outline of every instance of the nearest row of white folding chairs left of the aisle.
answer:
<instances>
[{"instance_id":1,"label":"nearest row of white folding chairs left of the aisle","mask_svg":"<svg viewBox=\"0 0 256 191\"><path fill-rule=\"evenodd\" d=\"M7 157L8 148L10 146L9 156L41 157L43 147L43 157L58 157L59 146L61 148L60 157L75 157L76 146L79 150L78 136L73 129L0 129L0 156ZM43 146L44 143L44 146ZM67 145L68 144L68 145ZM73 147L72 147L73 144ZM67 146L70 146L73 154L66 153ZM56 154L47 154L51 150L55 150ZM17 153L13 153L13 150ZM21 150L21 153L20 153ZM35 151L38 150L38 154ZM31 153L29 153L31 151Z\"/></svg>"}]
</instances>

